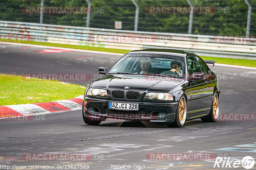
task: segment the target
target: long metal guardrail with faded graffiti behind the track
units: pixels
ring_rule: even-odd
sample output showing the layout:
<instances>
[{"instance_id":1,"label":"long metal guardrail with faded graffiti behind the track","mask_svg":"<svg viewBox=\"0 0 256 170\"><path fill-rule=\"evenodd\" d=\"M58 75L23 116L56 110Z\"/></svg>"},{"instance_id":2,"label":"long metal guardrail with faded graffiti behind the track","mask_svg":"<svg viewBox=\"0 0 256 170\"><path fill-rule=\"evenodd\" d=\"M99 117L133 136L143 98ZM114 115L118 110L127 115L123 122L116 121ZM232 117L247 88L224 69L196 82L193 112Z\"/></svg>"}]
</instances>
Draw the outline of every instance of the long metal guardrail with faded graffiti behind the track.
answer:
<instances>
[{"instance_id":1,"label":"long metal guardrail with faded graffiti behind the track","mask_svg":"<svg viewBox=\"0 0 256 170\"><path fill-rule=\"evenodd\" d=\"M0 36L22 36L27 40L37 42L128 50L170 48L193 52L200 56L256 60L255 42L220 43L219 41L223 40L223 37L209 35L140 32L0 21Z\"/></svg>"}]
</instances>

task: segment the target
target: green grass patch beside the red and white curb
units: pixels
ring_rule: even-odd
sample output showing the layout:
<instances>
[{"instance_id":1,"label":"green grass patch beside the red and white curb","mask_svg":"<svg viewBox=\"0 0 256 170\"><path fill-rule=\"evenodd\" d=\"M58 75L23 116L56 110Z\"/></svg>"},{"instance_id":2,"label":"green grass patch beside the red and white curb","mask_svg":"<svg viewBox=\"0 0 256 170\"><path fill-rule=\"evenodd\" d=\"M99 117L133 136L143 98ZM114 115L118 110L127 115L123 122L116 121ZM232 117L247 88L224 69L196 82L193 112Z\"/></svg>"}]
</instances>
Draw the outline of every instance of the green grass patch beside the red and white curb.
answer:
<instances>
[{"instance_id":1,"label":"green grass patch beside the red and white curb","mask_svg":"<svg viewBox=\"0 0 256 170\"><path fill-rule=\"evenodd\" d=\"M0 106L65 100L83 95L85 88L60 81L24 81L21 76L0 74Z\"/></svg>"}]
</instances>

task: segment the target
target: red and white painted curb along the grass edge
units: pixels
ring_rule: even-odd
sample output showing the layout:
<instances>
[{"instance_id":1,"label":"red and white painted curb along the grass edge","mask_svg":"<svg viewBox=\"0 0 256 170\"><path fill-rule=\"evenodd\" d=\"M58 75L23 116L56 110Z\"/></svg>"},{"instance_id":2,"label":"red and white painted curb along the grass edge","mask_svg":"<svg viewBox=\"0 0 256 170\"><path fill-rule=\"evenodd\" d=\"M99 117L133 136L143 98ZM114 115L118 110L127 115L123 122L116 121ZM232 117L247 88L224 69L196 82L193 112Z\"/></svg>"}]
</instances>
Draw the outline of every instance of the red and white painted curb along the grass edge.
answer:
<instances>
[{"instance_id":1,"label":"red and white painted curb along the grass edge","mask_svg":"<svg viewBox=\"0 0 256 170\"><path fill-rule=\"evenodd\" d=\"M0 106L0 119L82 109L84 95L67 100Z\"/></svg>"}]
</instances>

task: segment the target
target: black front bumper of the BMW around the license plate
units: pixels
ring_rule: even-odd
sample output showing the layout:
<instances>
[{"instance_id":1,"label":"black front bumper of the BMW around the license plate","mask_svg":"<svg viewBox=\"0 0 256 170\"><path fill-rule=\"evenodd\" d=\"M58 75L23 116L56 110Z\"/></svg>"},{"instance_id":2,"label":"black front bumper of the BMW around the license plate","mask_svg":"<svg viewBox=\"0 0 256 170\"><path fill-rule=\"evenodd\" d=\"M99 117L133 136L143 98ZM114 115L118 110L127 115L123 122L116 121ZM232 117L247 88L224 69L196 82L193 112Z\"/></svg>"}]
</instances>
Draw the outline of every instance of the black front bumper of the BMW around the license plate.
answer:
<instances>
[{"instance_id":1,"label":"black front bumper of the BMW around the license plate","mask_svg":"<svg viewBox=\"0 0 256 170\"><path fill-rule=\"evenodd\" d=\"M139 103L139 111L108 109L109 102ZM178 102L158 103L145 101L120 101L103 98L84 98L84 116L94 121L133 120L173 123Z\"/></svg>"}]
</instances>

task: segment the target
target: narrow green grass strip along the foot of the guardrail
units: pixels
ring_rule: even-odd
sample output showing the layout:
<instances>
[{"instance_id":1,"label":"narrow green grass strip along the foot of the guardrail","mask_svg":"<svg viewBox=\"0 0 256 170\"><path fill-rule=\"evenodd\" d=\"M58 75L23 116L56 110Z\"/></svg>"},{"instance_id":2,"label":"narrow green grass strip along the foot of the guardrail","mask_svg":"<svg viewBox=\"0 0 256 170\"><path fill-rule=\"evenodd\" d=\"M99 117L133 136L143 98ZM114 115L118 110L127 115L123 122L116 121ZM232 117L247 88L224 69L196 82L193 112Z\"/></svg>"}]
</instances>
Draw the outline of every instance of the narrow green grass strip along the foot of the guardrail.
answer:
<instances>
[{"instance_id":1,"label":"narrow green grass strip along the foot of the guardrail","mask_svg":"<svg viewBox=\"0 0 256 170\"><path fill-rule=\"evenodd\" d=\"M122 49L112 49L112 48L104 48L104 47L94 47L94 46L75 46L68 44L54 44L54 43L44 43L44 42L22 42L25 44L35 44L42 46L55 46L55 47L64 47L64 48L74 48L74 49L82 49L82 50L93 50L93 51L104 51L111 53L128 53L131 50L122 50ZM88 44L89 45L89 44ZM216 60L216 63L220 64L231 64L237 66L247 66L247 67L256 67L256 60L244 60L244 59L229 59L229 58L219 58L219 57L205 57L202 56L204 60Z\"/></svg>"}]
</instances>

